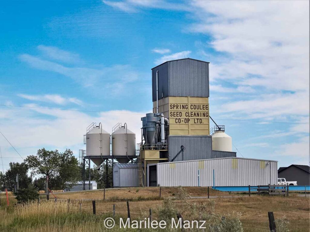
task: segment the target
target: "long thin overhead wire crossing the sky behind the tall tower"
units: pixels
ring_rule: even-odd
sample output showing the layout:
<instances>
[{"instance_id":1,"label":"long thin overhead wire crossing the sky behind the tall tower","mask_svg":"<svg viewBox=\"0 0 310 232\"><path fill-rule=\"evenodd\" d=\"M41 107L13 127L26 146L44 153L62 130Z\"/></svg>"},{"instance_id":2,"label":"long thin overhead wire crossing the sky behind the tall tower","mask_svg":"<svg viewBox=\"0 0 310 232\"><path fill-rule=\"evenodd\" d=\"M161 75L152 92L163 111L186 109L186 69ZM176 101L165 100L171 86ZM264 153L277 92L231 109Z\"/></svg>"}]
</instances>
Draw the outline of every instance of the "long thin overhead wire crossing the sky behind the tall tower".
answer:
<instances>
[{"instance_id":1,"label":"long thin overhead wire crossing the sky behind the tall tower","mask_svg":"<svg viewBox=\"0 0 310 232\"><path fill-rule=\"evenodd\" d=\"M64 110L64 111L78 111L78 112L91 112L91 113L104 113L104 114L125 114L125 115L139 115L139 116L144 116L144 114L120 113L120 112L107 112L107 111L72 110L72 109L61 109L61 108L33 107L33 106L15 106L15 105L2 105L2 104L0 104L0 106L21 107L21 108L34 108L34 109L46 109L46 110ZM215 120L241 121L241 122L285 123L285 124L302 124L302 125L309 125L309 123L299 123L299 122L256 121L256 120L224 119L224 118L215 118Z\"/></svg>"}]
</instances>

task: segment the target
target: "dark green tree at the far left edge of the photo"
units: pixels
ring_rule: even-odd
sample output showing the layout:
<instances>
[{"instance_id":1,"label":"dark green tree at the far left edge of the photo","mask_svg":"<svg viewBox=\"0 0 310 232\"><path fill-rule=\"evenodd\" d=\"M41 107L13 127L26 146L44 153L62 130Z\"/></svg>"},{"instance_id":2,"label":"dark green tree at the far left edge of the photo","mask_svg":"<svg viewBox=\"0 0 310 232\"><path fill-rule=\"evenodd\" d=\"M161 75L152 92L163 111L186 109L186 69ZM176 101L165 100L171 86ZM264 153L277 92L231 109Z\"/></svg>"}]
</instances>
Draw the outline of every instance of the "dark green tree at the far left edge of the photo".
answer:
<instances>
[{"instance_id":1,"label":"dark green tree at the far left edge of the photo","mask_svg":"<svg viewBox=\"0 0 310 232\"><path fill-rule=\"evenodd\" d=\"M25 162L10 162L9 169L5 172L5 175L1 177L4 182L4 178L7 184L7 189L13 191L16 185L16 175L19 175L19 188L27 189L29 184L32 183L31 177L28 175L29 167Z\"/></svg>"}]
</instances>

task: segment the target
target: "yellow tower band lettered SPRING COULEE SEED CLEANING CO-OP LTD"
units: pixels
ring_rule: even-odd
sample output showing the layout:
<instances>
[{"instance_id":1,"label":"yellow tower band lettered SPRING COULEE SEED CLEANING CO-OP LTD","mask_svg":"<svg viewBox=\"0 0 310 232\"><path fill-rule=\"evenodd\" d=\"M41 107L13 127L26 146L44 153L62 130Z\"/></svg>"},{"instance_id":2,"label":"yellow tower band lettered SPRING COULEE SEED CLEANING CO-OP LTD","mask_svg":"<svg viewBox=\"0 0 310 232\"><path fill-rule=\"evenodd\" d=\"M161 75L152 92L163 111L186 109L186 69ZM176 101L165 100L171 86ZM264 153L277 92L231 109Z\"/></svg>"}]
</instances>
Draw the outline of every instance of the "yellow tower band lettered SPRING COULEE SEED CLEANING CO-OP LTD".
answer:
<instances>
[{"instance_id":1,"label":"yellow tower band lettered SPRING COULEE SEED CLEANING CO-OP LTD","mask_svg":"<svg viewBox=\"0 0 310 232\"><path fill-rule=\"evenodd\" d=\"M208 135L209 99L198 97L167 97L159 100L159 112L169 118L171 135ZM153 102L156 112L156 102Z\"/></svg>"}]
</instances>

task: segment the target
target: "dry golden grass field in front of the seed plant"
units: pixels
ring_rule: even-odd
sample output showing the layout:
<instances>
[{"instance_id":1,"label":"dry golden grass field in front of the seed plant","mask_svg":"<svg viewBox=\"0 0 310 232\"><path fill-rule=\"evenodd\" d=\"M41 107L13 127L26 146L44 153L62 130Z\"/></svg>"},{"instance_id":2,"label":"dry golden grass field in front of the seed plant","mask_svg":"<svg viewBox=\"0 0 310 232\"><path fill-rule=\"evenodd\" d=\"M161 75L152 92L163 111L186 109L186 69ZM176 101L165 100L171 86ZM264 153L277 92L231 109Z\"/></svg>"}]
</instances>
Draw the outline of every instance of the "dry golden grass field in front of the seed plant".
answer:
<instances>
[{"instance_id":1,"label":"dry golden grass field in front of the seed plant","mask_svg":"<svg viewBox=\"0 0 310 232\"><path fill-rule=\"evenodd\" d=\"M206 196L206 188L184 188L191 196ZM176 188L162 188L162 198L175 196ZM83 192L56 193L58 202L54 202L51 195L50 201L45 202L42 197L41 204L34 203L29 207L12 207L15 203L14 196L10 194L10 207L5 203L2 194L0 210L0 231L103 231L102 218L112 214L113 204L116 204L116 214L126 218L127 206L125 199L133 199L130 202L132 218L148 217L149 208L156 219L158 210L162 206L162 199L158 199L159 188L124 188L107 189L106 199L103 201L103 190L91 190ZM240 221L244 231L268 231L268 211L273 211L275 218L285 216L289 220L290 231L309 231L310 198L299 197L292 194L290 197L281 196L257 196L246 194L229 194L210 189L210 196L218 196L210 201L215 201L215 213L221 216L240 213ZM68 207L67 200L70 198ZM113 199L116 199L113 201ZM155 198L155 200L148 200ZM96 199L96 216L92 215L92 202ZM175 200L176 208L182 212L184 218L191 217L189 204L201 205L210 202L207 198L192 198ZM81 205L81 212L79 207ZM69 213L68 213L69 212ZM119 231L119 230L109 230ZM135 230L126 230L135 231Z\"/></svg>"}]
</instances>

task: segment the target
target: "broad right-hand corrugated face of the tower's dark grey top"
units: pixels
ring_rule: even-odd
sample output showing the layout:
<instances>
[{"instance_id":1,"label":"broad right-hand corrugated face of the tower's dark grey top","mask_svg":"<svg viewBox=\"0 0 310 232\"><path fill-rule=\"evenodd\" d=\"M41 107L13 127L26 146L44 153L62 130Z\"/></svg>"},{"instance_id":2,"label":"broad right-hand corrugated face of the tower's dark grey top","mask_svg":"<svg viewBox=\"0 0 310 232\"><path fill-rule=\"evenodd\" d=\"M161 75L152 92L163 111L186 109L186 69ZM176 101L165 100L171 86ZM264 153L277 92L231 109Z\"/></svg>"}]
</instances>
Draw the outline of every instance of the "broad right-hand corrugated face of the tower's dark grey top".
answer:
<instances>
[{"instance_id":1,"label":"broad right-hand corrugated face of the tower's dark grey top","mask_svg":"<svg viewBox=\"0 0 310 232\"><path fill-rule=\"evenodd\" d=\"M169 96L209 97L209 63L184 59L168 64Z\"/></svg>"}]
</instances>

